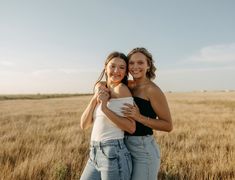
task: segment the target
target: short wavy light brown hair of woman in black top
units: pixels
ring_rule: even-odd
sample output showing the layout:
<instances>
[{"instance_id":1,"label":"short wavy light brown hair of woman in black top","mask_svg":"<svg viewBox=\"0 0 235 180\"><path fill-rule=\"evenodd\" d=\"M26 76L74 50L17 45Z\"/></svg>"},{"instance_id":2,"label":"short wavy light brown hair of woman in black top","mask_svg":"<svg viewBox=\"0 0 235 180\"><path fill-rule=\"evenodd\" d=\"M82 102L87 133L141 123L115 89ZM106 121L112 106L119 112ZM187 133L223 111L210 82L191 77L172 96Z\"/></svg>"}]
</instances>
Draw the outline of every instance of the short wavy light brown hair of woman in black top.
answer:
<instances>
[{"instance_id":1,"label":"short wavy light brown hair of woman in black top","mask_svg":"<svg viewBox=\"0 0 235 180\"><path fill-rule=\"evenodd\" d=\"M146 73L146 76L148 79L154 79L156 77L155 71L156 71L156 67L154 65L154 60L152 57L152 54L145 48L143 47L137 47L132 49L129 54L127 55L128 61L130 60L131 56L135 53L142 53L143 55L146 56L147 58L147 63L149 65L149 70Z\"/></svg>"}]
</instances>

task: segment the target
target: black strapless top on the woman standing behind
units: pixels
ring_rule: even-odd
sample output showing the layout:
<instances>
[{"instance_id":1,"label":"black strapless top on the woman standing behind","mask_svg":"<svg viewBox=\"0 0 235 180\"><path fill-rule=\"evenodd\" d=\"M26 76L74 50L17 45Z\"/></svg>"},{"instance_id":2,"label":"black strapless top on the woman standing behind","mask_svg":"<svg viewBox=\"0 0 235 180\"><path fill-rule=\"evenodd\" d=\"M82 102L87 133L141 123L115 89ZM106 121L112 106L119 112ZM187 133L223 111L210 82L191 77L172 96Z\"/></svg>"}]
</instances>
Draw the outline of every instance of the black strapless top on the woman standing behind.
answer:
<instances>
[{"instance_id":1,"label":"black strapless top on the woman standing behind","mask_svg":"<svg viewBox=\"0 0 235 180\"><path fill-rule=\"evenodd\" d=\"M150 101L139 98L139 97L133 97L136 105L138 106L140 110L140 114L155 119L157 117L156 113L154 112ZM156 119L157 120L157 119ZM147 127L139 122L136 121L136 131L133 134L129 134L128 132L125 132L125 135L128 136L146 136L146 135L152 135L153 130L150 127Z\"/></svg>"}]
</instances>

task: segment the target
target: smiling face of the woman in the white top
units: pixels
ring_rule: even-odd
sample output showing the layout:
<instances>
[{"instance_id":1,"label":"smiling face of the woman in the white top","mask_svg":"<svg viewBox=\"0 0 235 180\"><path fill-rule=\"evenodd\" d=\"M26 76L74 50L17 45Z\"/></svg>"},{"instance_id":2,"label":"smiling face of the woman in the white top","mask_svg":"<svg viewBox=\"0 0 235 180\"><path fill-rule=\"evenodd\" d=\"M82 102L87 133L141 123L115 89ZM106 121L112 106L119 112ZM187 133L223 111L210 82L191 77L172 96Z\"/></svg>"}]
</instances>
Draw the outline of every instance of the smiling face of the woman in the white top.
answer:
<instances>
[{"instance_id":1,"label":"smiling face of the woman in the white top","mask_svg":"<svg viewBox=\"0 0 235 180\"><path fill-rule=\"evenodd\" d=\"M112 58L106 65L105 71L109 83L120 83L126 75L126 62L118 57Z\"/></svg>"}]
</instances>

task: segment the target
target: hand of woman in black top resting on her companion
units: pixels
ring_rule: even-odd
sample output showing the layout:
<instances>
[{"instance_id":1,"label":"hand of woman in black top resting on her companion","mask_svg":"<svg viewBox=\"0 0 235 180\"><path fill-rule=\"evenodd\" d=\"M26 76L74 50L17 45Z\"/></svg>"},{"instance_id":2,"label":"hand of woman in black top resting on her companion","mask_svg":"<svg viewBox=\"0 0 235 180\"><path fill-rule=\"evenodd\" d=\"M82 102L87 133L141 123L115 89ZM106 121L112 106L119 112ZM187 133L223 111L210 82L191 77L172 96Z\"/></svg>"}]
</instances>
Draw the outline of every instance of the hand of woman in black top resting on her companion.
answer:
<instances>
[{"instance_id":1,"label":"hand of woman in black top resting on her companion","mask_svg":"<svg viewBox=\"0 0 235 180\"><path fill-rule=\"evenodd\" d=\"M125 107L122 107L123 115L126 116L127 118L131 118L138 121L138 119L141 116L138 106L136 104L131 105L127 103L125 103L124 105Z\"/></svg>"}]
</instances>

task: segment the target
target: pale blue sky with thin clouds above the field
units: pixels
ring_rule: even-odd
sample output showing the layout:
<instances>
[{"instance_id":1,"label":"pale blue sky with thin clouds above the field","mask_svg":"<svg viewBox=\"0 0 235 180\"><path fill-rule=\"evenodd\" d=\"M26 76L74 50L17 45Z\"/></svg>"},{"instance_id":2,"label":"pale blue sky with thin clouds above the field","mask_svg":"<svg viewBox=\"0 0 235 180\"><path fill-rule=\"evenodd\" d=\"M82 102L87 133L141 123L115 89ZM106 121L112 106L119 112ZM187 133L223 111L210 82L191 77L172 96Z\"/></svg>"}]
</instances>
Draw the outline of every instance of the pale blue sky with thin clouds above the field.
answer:
<instances>
[{"instance_id":1,"label":"pale blue sky with thin clouds above the field","mask_svg":"<svg viewBox=\"0 0 235 180\"><path fill-rule=\"evenodd\" d=\"M234 0L0 0L0 94L92 92L146 47L163 91L235 89Z\"/></svg>"}]
</instances>

